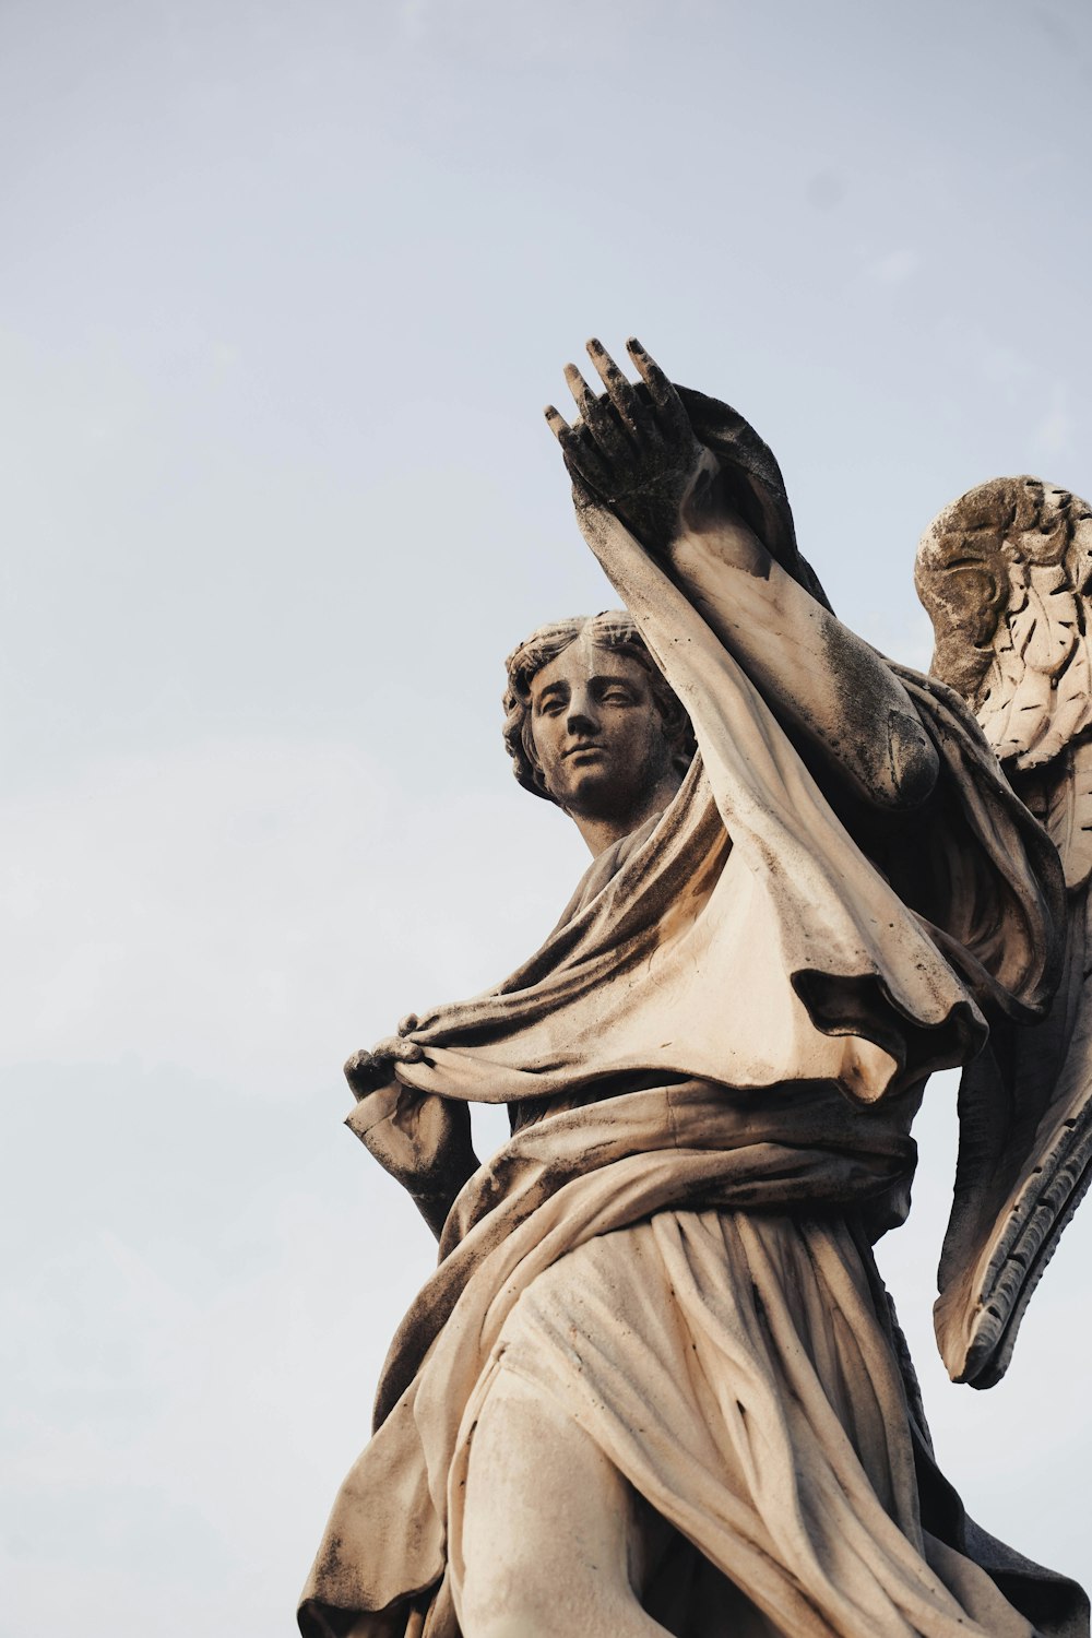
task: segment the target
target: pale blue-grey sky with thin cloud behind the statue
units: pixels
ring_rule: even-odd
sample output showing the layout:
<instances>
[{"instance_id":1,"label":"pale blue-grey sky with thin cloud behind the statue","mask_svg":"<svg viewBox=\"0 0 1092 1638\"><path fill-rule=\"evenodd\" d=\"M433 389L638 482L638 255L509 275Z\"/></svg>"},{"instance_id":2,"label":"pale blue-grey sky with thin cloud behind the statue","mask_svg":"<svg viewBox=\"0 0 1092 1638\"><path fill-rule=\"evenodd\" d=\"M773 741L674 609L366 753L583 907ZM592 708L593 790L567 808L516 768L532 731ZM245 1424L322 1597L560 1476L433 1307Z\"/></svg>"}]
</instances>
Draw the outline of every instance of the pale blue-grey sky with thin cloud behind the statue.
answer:
<instances>
[{"instance_id":1,"label":"pale blue-grey sky with thin cloud behind the statue","mask_svg":"<svg viewBox=\"0 0 1092 1638\"><path fill-rule=\"evenodd\" d=\"M616 603L562 364L743 410L927 665L930 518L1092 495L1090 77L1082 0L3 0L2 1638L295 1630L434 1255L341 1061L584 867L499 737ZM969 1509L1092 1581L1092 1206L948 1384L953 1102L882 1266Z\"/></svg>"}]
</instances>

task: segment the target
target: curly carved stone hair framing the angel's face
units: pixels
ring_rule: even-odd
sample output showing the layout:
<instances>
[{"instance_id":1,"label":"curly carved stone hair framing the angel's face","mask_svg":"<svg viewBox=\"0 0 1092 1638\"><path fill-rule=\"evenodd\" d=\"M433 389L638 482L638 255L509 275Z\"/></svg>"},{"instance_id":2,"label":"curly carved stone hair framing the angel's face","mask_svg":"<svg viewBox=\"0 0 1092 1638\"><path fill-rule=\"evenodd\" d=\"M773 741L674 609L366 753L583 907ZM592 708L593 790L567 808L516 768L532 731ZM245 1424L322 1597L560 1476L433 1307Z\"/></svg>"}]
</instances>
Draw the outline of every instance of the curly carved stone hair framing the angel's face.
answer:
<instances>
[{"instance_id":1,"label":"curly carved stone hair framing the angel's face","mask_svg":"<svg viewBox=\"0 0 1092 1638\"><path fill-rule=\"evenodd\" d=\"M689 716L675 691L668 686L663 672L645 647L645 640L629 614L609 609L604 614L584 614L539 626L506 660L504 744L514 763L512 771L522 788L534 796L544 796L548 803L553 801L553 796L545 788L530 732L530 683L544 665L557 660L558 654L563 654L570 644L584 634L598 647L616 649L629 660L635 660L648 673L652 699L663 722L663 735L671 749L671 762L681 773L686 773L697 750Z\"/></svg>"}]
</instances>

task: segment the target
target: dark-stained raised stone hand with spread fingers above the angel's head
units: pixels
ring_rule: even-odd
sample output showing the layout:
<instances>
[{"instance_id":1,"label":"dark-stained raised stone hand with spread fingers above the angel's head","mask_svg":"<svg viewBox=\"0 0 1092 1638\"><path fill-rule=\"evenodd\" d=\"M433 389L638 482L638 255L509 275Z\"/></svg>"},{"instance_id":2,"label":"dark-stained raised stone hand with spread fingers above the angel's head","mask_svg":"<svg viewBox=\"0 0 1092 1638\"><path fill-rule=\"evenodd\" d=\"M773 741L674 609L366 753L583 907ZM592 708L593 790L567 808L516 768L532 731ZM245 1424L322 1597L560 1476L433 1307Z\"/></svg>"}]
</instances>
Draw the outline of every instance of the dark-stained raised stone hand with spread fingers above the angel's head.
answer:
<instances>
[{"instance_id":1,"label":"dark-stained raised stone hand with spread fingers above the angel's head","mask_svg":"<svg viewBox=\"0 0 1092 1638\"><path fill-rule=\"evenodd\" d=\"M606 391L596 396L575 364L565 380L580 411L570 426L550 405L547 423L580 490L591 490L650 550L666 550L683 527L683 506L715 462L694 437L683 400L655 359L625 344L643 388L627 380L602 342L588 355Z\"/></svg>"}]
</instances>

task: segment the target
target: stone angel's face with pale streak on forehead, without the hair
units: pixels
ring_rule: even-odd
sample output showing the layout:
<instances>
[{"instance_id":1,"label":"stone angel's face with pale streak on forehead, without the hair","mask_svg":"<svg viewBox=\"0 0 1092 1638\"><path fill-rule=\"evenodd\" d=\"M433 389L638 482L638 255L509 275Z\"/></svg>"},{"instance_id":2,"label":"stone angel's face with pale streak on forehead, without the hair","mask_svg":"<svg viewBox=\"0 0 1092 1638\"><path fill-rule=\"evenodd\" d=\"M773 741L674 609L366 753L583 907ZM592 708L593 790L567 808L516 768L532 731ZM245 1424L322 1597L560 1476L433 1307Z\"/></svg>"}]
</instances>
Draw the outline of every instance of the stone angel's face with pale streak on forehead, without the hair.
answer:
<instances>
[{"instance_id":1,"label":"stone angel's face with pale streak on forehead, without the hair","mask_svg":"<svg viewBox=\"0 0 1092 1638\"><path fill-rule=\"evenodd\" d=\"M588 636L532 678L530 732L550 796L581 817L625 819L671 770L648 673Z\"/></svg>"}]
</instances>

